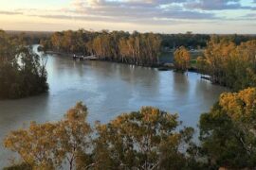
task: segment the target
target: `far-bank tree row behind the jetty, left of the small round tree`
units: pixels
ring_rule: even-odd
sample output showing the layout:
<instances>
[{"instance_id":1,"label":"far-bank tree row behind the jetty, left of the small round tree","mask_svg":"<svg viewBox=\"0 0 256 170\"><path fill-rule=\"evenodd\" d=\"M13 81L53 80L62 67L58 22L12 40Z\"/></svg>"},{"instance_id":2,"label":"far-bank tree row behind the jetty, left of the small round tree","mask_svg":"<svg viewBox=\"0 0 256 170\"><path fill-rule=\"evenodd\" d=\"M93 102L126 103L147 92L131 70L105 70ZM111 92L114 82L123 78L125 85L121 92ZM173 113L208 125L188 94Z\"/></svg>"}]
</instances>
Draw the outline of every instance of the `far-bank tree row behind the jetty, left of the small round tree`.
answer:
<instances>
[{"instance_id":1,"label":"far-bank tree row behind the jetty, left of the small round tree","mask_svg":"<svg viewBox=\"0 0 256 170\"><path fill-rule=\"evenodd\" d=\"M254 39L253 35L220 35L240 44ZM170 51L181 45L189 49L205 48L210 41L206 34L132 34L125 31L102 30L100 32L67 30L55 32L49 39L42 39L45 50L97 55L100 59L113 60L136 65L158 64L162 51Z\"/></svg>"}]
</instances>

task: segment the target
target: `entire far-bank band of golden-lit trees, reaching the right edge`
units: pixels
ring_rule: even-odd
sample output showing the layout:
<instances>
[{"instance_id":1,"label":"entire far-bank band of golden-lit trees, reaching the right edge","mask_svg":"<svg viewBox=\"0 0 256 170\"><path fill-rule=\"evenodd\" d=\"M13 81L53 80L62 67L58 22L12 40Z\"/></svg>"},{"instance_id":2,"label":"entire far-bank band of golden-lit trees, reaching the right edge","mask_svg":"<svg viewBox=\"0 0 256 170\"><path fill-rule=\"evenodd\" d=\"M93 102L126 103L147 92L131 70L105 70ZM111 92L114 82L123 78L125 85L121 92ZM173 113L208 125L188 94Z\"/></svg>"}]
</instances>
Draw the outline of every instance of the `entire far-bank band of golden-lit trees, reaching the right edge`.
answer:
<instances>
[{"instance_id":1,"label":"entire far-bank band of golden-lit trees, reaching the right edge","mask_svg":"<svg viewBox=\"0 0 256 170\"><path fill-rule=\"evenodd\" d=\"M40 42L45 51L96 55L99 59L159 66L162 52L174 52L174 68L182 72L194 68L209 75L213 83L241 90L256 85L256 35L155 34L125 31L9 32L11 39L27 44ZM182 47L181 47L182 46ZM204 54L191 64L191 51ZM201 50L203 51L203 50Z\"/></svg>"}]
</instances>

